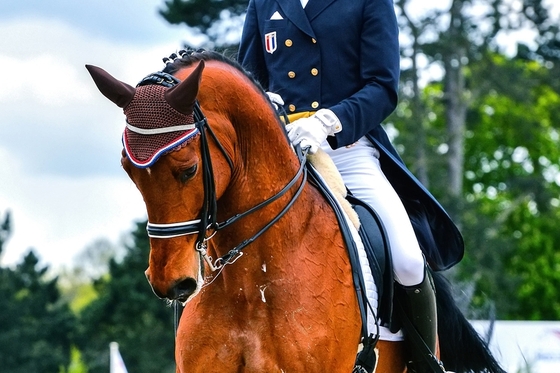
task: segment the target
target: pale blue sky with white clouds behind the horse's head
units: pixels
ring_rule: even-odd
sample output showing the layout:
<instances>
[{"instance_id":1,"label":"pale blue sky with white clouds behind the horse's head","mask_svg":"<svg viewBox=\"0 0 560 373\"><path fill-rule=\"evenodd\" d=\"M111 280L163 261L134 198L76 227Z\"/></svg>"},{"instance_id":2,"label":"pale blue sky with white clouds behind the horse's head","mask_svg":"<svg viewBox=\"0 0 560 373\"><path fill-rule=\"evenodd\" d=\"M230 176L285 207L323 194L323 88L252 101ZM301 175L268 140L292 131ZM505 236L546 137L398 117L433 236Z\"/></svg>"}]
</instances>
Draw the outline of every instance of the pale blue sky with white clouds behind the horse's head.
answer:
<instances>
[{"instance_id":1,"label":"pale blue sky with white clouds behind the horse's head","mask_svg":"<svg viewBox=\"0 0 560 373\"><path fill-rule=\"evenodd\" d=\"M84 65L133 85L162 69L161 59L183 42L200 43L157 14L163 3L0 2L0 218L9 210L13 223L0 265L18 263L32 248L51 268L71 267L97 239L119 244L145 219L120 166L122 110L99 93ZM419 0L416 7L448 3Z\"/></svg>"}]
</instances>

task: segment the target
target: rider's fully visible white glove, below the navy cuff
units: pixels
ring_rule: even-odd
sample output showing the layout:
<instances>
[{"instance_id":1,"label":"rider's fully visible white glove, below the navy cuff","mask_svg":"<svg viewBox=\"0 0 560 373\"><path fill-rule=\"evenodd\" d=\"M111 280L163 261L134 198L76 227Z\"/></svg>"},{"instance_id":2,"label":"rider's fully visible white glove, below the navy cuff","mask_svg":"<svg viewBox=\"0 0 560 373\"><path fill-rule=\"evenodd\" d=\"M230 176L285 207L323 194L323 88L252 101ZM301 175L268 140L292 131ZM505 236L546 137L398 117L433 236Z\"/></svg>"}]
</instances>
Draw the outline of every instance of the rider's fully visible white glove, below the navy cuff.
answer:
<instances>
[{"instance_id":1,"label":"rider's fully visible white glove, below the navy cuff","mask_svg":"<svg viewBox=\"0 0 560 373\"><path fill-rule=\"evenodd\" d=\"M340 120L329 109L321 109L309 118L301 118L286 125L292 144L299 144L302 149L309 147L309 154L316 153L327 136L334 136L341 130Z\"/></svg>"}]
</instances>

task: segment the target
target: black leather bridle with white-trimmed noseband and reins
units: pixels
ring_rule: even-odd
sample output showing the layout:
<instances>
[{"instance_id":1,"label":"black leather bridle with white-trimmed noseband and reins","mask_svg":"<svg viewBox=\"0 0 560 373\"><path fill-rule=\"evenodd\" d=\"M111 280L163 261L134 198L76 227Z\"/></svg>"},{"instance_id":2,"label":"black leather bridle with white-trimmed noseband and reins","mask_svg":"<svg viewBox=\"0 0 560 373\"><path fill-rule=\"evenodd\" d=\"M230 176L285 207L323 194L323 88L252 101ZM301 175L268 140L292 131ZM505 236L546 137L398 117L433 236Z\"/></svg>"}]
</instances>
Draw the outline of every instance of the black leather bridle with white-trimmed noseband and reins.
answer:
<instances>
[{"instance_id":1,"label":"black leather bridle with white-trimmed noseband and reins","mask_svg":"<svg viewBox=\"0 0 560 373\"><path fill-rule=\"evenodd\" d=\"M146 78L142 79L137 86L146 84L159 84L165 87L173 87L178 84L179 80L173 75L157 72L148 75ZM237 261L242 255L242 250L260 237L264 232L266 232L271 226L273 226L284 214L292 207L298 196L303 191L303 188L307 181L307 168L306 163L306 153L307 151L302 151L299 147L296 148L296 154L300 159L300 166L294 177L275 195L264 200L263 202L253 206L249 210L239 213L230 217L229 219L218 222L217 221L217 210L218 210L218 199L216 196L216 186L214 181L214 172L212 168L212 159L210 156L210 148L208 144L208 134L212 137L220 152L226 158L231 171L234 170L233 161L225 151L222 144L219 142L215 133L212 131L208 125L208 120L206 116L202 113L198 101L195 102L194 108L194 120L195 127L200 132L200 147L201 147L201 163L202 163L202 178L203 178L203 188L204 188L204 201L202 209L200 211L200 217L198 219L175 222L175 223L150 223L148 222L146 230L148 236L151 238L174 238L180 236L186 236L191 234L198 234L195 248L199 252L200 256L208 264L210 270L215 272L221 270L225 265L232 264ZM288 192L298 181L298 179L303 175L300 184L297 187L296 192L290 199L290 201L282 208L282 210L264 227L262 227L258 232L253 234L252 237L242 241L229 252L227 252L222 257L216 259L215 261L208 255L207 243L208 241L221 229L224 229L231 224L235 223L239 219L242 219L253 212L260 210L270 203L276 201L278 198L282 197L286 192ZM209 235L209 232L210 235Z\"/></svg>"}]
</instances>

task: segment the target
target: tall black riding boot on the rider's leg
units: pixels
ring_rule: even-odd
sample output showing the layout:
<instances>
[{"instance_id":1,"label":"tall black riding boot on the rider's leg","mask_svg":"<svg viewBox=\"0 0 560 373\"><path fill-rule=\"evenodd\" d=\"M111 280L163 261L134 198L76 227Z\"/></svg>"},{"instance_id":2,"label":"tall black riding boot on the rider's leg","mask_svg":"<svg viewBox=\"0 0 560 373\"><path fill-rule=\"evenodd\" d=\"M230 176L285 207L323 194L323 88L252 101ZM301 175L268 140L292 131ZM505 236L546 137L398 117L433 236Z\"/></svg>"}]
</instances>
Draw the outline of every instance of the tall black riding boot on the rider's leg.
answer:
<instances>
[{"instance_id":1,"label":"tall black riding boot on the rider's leg","mask_svg":"<svg viewBox=\"0 0 560 373\"><path fill-rule=\"evenodd\" d=\"M436 293L432 276L426 270L424 280L416 286L402 286L397 284L395 295L398 297L402 312L410 320L407 323L403 320L405 345L408 358L408 372L414 373L433 373L443 372L443 368L437 370L438 360L435 357L437 343L437 306ZM412 325L410 325L412 324ZM410 331L413 327L420 338L414 340L411 335L414 331ZM419 347L423 340L426 348ZM429 356L429 355L432 356ZM432 360L436 365L431 365L427 359Z\"/></svg>"}]
</instances>

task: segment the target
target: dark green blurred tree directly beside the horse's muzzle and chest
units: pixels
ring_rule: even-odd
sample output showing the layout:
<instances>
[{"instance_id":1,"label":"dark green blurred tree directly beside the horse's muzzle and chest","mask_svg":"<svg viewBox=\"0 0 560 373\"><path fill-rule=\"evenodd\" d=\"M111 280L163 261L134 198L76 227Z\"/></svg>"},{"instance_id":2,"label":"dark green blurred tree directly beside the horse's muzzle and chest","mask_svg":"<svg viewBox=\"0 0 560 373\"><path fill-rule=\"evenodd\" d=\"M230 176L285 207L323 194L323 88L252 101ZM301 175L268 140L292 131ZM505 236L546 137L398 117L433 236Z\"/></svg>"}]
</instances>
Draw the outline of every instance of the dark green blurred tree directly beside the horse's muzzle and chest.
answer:
<instances>
[{"instance_id":1,"label":"dark green blurred tree directly beside the horse's muzzle and chest","mask_svg":"<svg viewBox=\"0 0 560 373\"><path fill-rule=\"evenodd\" d=\"M130 372L175 372L173 311L144 276L150 250L146 222L138 223L131 237L123 260L110 261L108 274L94 281L97 298L80 312L78 346L89 373L108 371L113 341Z\"/></svg>"}]
</instances>

